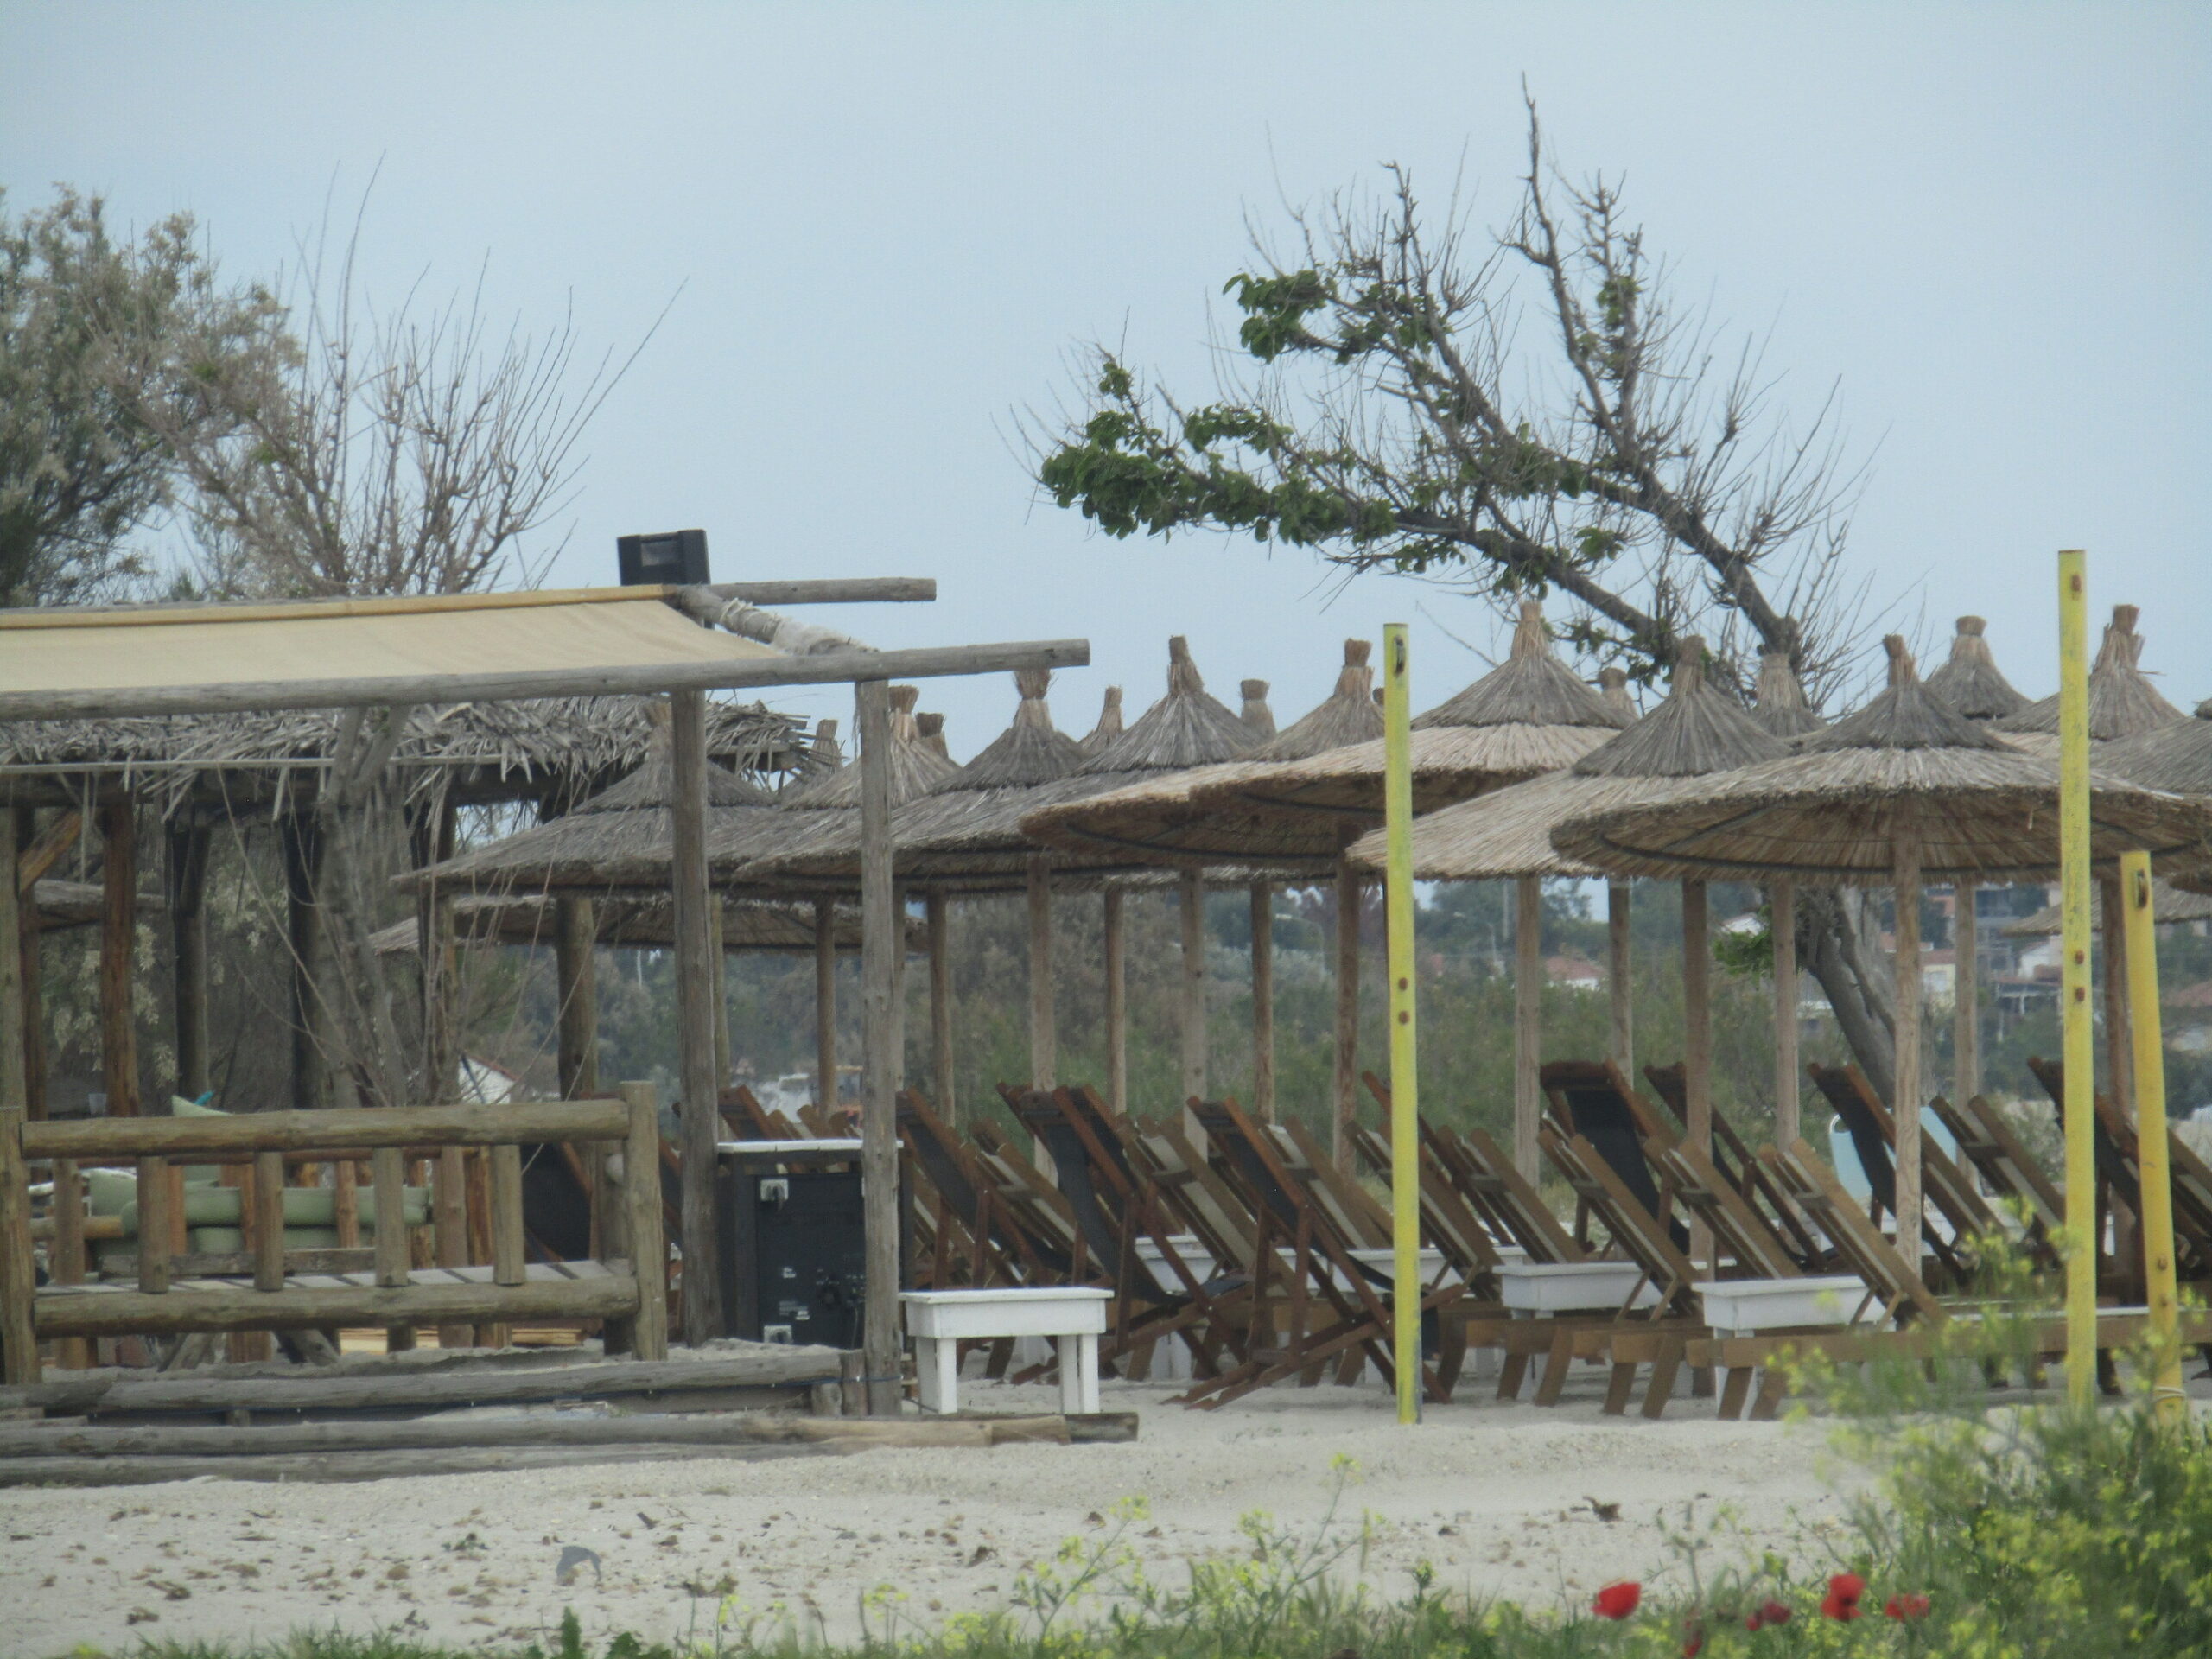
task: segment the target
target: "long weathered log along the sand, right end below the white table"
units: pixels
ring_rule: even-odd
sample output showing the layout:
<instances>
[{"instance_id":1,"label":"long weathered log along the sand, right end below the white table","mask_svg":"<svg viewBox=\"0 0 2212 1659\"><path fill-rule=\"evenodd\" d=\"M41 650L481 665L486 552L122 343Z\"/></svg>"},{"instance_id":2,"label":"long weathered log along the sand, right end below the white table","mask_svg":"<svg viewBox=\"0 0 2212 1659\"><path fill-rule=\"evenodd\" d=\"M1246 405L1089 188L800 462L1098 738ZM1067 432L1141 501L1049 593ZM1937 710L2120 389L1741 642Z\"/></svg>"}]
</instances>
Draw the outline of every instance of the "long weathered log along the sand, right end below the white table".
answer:
<instances>
[{"instance_id":1,"label":"long weathered log along the sand, right end below the white table","mask_svg":"<svg viewBox=\"0 0 2212 1659\"><path fill-rule=\"evenodd\" d=\"M832 1385L834 1387L834 1385ZM531 1411L515 1418L405 1418L398 1422L274 1422L232 1427L0 1425L0 1460L11 1458L252 1458L321 1451L409 1451L429 1447L1011 1447L1106 1444L1137 1438L1137 1413L1062 1418L818 1418L799 1411L688 1416L582 1416Z\"/></svg>"}]
</instances>

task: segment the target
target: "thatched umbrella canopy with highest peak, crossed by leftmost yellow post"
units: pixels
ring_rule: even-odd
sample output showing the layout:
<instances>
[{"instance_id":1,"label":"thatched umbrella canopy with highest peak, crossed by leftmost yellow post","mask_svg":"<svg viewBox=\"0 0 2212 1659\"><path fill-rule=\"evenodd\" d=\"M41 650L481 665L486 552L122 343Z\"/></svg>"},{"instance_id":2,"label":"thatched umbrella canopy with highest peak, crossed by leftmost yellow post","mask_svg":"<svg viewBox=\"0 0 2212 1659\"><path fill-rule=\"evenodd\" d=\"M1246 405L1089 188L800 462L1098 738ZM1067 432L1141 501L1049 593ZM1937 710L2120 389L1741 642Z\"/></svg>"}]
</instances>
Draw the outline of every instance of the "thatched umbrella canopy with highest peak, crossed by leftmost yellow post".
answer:
<instances>
[{"instance_id":1,"label":"thatched umbrella canopy with highest peak, crossed by leftmost yellow post","mask_svg":"<svg viewBox=\"0 0 2212 1659\"><path fill-rule=\"evenodd\" d=\"M1573 765L1635 714L1608 703L1551 655L1544 611L1522 604L1513 653L1413 721L1413 810L1431 812L1500 783ZM1312 812L1347 825L1383 816L1383 741L1272 770L1210 796L1217 807Z\"/></svg>"}]
</instances>

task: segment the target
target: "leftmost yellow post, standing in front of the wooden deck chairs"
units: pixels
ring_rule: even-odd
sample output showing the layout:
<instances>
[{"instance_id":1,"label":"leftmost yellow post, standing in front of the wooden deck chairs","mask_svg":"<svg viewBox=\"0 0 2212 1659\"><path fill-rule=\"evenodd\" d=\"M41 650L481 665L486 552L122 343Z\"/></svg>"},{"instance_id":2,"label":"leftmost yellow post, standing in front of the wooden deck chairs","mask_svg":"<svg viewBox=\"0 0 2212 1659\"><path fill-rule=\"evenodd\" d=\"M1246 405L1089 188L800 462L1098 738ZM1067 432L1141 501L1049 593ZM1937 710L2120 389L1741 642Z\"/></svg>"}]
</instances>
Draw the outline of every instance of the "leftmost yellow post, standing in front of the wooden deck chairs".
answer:
<instances>
[{"instance_id":1,"label":"leftmost yellow post, standing in front of the wooden deck chairs","mask_svg":"<svg viewBox=\"0 0 2212 1659\"><path fill-rule=\"evenodd\" d=\"M1398 1263L1398 1422L1420 1422L1420 1079L1413 1053L1413 741L1405 624L1383 628L1383 836L1389 845L1389 1212Z\"/></svg>"}]
</instances>

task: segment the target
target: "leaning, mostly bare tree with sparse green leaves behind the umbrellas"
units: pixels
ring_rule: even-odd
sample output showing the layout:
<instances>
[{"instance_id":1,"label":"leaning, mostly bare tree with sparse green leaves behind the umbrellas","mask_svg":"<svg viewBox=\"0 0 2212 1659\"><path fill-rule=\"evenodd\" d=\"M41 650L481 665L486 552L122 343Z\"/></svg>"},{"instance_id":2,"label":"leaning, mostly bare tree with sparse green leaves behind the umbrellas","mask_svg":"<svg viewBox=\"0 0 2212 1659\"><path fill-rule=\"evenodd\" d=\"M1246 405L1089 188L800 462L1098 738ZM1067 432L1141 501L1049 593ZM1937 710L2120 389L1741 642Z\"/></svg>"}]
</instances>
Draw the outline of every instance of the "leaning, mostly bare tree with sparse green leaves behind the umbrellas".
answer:
<instances>
[{"instance_id":1,"label":"leaning, mostly bare tree with sparse green leaves behind the umbrellas","mask_svg":"<svg viewBox=\"0 0 2212 1659\"><path fill-rule=\"evenodd\" d=\"M1533 102L1495 234L1458 197L1431 226L1411 175L1385 179L1292 208L1281 243L1252 232L1210 403L1091 347L1075 407L1024 420L1040 489L1108 535L1239 531L1500 608L1559 593L1566 639L1641 681L1697 633L1717 684L1747 690L1781 650L1834 695L1867 624L1834 389L1792 425L1763 345L1672 305L1619 186L1564 177ZM1887 1077L1889 1002L1849 909L1803 914L1807 967Z\"/></svg>"}]
</instances>

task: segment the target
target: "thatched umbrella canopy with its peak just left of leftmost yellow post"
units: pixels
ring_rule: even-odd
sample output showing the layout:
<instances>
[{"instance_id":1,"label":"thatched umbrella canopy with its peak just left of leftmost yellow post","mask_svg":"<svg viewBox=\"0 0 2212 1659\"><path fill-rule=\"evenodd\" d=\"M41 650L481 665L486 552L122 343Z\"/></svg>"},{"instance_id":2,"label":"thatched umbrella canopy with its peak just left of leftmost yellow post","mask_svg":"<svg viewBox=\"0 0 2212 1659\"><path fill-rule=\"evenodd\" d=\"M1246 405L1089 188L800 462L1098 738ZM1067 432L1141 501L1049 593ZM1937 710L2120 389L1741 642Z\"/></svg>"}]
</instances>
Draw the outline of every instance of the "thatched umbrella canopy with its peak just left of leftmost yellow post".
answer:
<instances>
[{"instance_id":1,"label":"thatched umbrella canopy with its peak just left of leftmost yellow post","mask_svg":"<svg viewBox=\"0 0 2212 1659\"><path fill-rule=\"evenodd\" d=\"M1243 860L1285 874L1323 874L1336 858L1338 830L1316 816L1259 814L1221 801L1223 792L1270 776L1285 763L1380 737L1369 641L1347 639L1329 697L1250 752L1248 759L1128 783L1108 794L1037 812L1029 830L1055 847L1086 854L1157 856L1175 863ZM1259 681L1245 681L1254 686Z\"/></svg>"}]
</instances>

